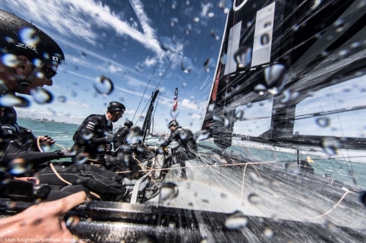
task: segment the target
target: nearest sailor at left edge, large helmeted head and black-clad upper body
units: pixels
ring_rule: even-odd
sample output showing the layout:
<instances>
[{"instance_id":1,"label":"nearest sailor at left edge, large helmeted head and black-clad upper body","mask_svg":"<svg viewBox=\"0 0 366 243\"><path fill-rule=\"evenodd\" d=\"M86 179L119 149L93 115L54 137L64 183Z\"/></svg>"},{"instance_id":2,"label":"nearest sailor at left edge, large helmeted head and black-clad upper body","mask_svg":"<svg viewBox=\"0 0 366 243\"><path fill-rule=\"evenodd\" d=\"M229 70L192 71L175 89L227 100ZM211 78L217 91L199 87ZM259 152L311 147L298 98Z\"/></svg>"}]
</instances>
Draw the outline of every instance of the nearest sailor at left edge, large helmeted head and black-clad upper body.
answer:
<instances>
[{"instance_id":1,"label":"nearest sailor at left edge, large helmeted head and black-clad upper body","mask_svg":"<svg viewBox=\"0 0 366 243\"><path fill-rule=\"evenodd\" d=\"M51 86L58 65L63 65L65 56L58 44L32 23L4 10L0 10L0 22L0 96L21 100L18 106L28 106L28 100L15 97L14 92L29 95L31 89ZM32 45L23 43L23 31L32 33L37 41ZM14 62L4 62L7 58ZM0 106L0 131L2 163L14 157L25 161L43 161L47 156L51 159L55 156L53 152L28 154L29 151L23 150L18 137L21 129L17 126L17 113L12 106ZM3 159L3 155L8 158Z\"/></svg>"}]
</instances>

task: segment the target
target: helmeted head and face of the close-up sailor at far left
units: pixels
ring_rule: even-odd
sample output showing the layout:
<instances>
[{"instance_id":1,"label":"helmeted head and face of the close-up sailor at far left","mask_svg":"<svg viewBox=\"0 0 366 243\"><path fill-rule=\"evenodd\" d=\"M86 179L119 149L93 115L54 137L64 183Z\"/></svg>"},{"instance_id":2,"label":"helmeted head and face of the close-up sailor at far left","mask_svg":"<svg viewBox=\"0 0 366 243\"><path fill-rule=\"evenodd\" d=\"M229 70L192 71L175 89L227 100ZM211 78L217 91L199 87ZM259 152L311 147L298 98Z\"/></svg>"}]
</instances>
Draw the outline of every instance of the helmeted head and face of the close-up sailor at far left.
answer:
<instances>
[{"instance_id":1,"label":"helmeted head and face of the close-up sailor at far left","mask_svg":"<svg viewBox=\"0 0 366 243\"><path fill-rule=\"evenodd\" d=\"M45 32L18 16L0 10L0 91L30 94L43 85L52 85L58 65L65 55L61 47ZM34 36L34 42L23 43L23 32Z\"/></svg>"}]
</instances>

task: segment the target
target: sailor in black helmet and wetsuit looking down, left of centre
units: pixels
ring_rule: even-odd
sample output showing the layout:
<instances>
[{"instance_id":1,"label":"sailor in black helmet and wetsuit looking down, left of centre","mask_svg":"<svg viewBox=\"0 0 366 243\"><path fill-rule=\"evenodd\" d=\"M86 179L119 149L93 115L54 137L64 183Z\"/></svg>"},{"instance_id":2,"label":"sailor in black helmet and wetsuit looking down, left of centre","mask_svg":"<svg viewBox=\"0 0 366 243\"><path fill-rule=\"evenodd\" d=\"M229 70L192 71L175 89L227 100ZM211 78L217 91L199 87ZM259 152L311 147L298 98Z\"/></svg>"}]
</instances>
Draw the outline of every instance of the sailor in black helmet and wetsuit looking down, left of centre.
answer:
<instances>
[{"instance_id":1,"label":"sailor in black helmet and wetsuit looking down, left of centre","mask_svg":"<svg viewBox=\"0 0 366 243\"><path fill-rule=\"evenodd\" d=\"M117 135L112 133L112 122L117 122L125 109L120 102L110 102L104 115L89 115L74 134L76 157L72 158L72 162L105 163L109 143L117 141Z\"/></svg>"}]
</instances>

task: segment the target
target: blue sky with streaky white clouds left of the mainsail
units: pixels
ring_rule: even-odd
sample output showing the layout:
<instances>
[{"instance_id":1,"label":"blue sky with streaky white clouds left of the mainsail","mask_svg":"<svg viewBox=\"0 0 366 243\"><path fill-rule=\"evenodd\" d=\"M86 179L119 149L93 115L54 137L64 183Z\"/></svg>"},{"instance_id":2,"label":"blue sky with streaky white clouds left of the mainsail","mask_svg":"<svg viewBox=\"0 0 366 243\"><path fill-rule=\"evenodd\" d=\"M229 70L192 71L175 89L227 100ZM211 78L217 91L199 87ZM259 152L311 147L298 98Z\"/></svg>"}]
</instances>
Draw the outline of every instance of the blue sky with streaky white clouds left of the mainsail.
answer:
<instances>
[{"instance_id":1,"label":"blue sky with streaky white clouds left of the mainsail","mask_svg":"<svg viewBox=\"0 0 366 243\"><path fill-rule=\"evenodd\" d=\"M138 117L158 88L153 131L168 132L172 115L181 126L200 130L226 22L219 1L3 0L0 8L32 21L65 54L54 84L45 86L52 102L37 104L28 96L31 105L17 108L19 117L80 124L118 101L127 110L114 128L126 119L142 126ZM98 82L102 76L114 86L108 95L106 82Z\"/></svg>"}]
</instances>

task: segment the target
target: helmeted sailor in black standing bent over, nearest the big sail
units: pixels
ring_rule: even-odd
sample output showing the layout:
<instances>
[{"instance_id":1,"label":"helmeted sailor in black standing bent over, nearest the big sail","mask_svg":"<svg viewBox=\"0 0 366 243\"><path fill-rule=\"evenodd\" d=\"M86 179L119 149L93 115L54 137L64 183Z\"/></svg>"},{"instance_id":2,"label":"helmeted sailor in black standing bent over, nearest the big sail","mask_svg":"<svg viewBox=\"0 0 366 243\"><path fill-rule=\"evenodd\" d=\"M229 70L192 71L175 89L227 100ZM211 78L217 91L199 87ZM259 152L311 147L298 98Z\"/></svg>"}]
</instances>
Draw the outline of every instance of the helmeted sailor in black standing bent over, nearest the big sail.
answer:
<instances>
[{"instance_id":1,"label":"helmeted sailor in black standing bent over, nearest the big sail","mask_svg":"<svg viewBox=\"0 0 366 243\"><path fill-rule=\"evenodd\" d=\"M175 154L173 154L172 157L168 157L164 161L162 169L171 167L173 163L179 163L180 167L182 167L182 178L187 179L185 161L195 159L195 157L197 156L197 143L195 142L191 130L182 128L176 121L169 122L169 128L171 130L171 135L168 139L166 139L166 141L164 141L164 143L160 145L160 148L164 150L166 146L169 146L172 141L178 141L180 146L175 148L176 152ZM160 178L164 178L166 174L167 171L162 170L162 172L160 173Z\"/></svg>"}]
</instances>

